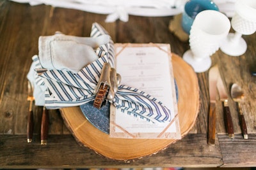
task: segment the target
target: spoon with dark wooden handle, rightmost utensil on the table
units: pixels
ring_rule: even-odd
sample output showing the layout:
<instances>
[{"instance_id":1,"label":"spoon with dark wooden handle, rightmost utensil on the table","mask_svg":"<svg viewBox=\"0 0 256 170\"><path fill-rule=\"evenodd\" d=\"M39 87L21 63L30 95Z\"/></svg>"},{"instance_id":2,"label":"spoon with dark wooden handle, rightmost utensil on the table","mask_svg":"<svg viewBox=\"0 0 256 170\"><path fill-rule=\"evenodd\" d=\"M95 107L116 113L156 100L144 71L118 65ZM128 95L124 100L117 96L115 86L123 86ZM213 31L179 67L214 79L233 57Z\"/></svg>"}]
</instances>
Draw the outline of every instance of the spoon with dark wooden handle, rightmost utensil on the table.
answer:
<instances>
[{"instance_id":1,"label":"spoon with dark wooden handle, rightmost utensil on the table","mask_svg":"<svg viewBox=\"0 0 256 170\"><path fill-rule=\"evenodd\" d=\"M230 94L231 94L232 99L237 103L237 106L238 106L240 125L241 125L244 139L248 139L247 126L246 126L246 122L244 119L243 110L241 108L241 103L244 102L244 92L241 89L241 87L239 85L237 85L236 83L234 83L232 85L230 91L231 91Z\"/></svg>"}]
</instances>

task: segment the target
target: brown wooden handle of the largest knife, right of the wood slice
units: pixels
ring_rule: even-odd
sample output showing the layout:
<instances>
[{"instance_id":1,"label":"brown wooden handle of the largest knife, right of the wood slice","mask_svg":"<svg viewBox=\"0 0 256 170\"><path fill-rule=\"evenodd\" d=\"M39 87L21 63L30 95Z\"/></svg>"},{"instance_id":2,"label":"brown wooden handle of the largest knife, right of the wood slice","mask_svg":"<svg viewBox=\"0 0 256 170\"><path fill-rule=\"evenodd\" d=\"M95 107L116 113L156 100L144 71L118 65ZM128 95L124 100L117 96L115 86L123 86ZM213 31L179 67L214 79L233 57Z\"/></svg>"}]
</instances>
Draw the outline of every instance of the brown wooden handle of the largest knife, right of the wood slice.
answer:
<instances>
[{"instance_id":1,"label":"brown wooden handle of the largest knife, right of the wood slice","mask_svg":"<svg viewBox=\"0 0 256 170\"><path fill-rule=\"evenodd\" d=\"M209 118L208 118L208 144L215 145L216 132L216 109L215 103L210 104Z\"/></svg>"}]
</instances>

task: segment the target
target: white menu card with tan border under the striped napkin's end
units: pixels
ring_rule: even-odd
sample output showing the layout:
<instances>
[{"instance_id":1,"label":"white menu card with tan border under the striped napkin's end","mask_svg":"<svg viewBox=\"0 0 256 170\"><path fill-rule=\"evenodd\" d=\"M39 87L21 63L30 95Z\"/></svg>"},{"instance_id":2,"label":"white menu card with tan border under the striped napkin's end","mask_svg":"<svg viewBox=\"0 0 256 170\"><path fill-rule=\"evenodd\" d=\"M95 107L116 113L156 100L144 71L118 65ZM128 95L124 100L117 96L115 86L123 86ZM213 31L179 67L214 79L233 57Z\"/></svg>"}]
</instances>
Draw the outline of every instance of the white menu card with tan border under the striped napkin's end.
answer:
<instances>
[{"instance_id":1,"label":"white menu card with tan border under the striped napkin's end","mask_svg":"<svg viewBox=\"0 0 256 170\"><path fill-rule=\"evenodd\" d=\"M109 137L180 139L177 96L169 44L115 44L116 72L122 85L161 101L171 111L170 122L148 122L111 106Z\"/></svg>"}]
</instances>

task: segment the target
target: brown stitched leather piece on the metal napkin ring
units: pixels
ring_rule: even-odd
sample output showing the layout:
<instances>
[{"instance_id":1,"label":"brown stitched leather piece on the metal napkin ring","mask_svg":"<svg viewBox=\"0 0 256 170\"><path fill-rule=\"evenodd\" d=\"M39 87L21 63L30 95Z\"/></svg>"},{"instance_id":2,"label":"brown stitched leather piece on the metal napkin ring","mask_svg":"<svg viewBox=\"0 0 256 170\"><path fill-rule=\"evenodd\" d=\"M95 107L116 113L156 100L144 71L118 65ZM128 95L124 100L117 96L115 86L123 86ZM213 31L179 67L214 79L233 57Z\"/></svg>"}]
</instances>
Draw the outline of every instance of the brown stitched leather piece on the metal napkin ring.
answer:
<instances>
[{"instance_id":1,"label":"brown stitched leather piece on the metal napkin ring","mask_svg":"<svg viewBox=\"0 0 256 170\"><path fill-rule=\"evenodd\" d=\"M97 92L95 100L93 102L93 106L95 108L101 108L102 103L106 99L107 93L108 93L108 85L104 85L104 83L102 83L100 85L99 91Z\"/></svg>"}]
</instances>

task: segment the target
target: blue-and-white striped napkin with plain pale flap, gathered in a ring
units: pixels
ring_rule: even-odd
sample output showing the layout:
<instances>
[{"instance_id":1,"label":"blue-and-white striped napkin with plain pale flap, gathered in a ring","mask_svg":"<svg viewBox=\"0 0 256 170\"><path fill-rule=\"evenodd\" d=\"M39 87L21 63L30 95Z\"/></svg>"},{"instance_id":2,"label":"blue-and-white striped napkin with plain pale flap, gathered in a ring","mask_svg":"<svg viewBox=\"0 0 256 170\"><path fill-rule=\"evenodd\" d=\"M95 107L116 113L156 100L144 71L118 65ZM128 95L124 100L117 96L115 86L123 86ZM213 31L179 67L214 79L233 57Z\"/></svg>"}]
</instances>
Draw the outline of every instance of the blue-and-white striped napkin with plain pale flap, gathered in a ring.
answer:
<instances>
[{"instance_id":1,"label":"blue-and-white striped napkin with plain pale flap, gathered in a ring","mask_svg":"<svg viewBox=\"0 0 256 170\"><path fill-rule=\"evenodd\" d=\"M92 25L90 38L40 37L39 55L33 56L28 73L35 86L36 105L57 109L93 101L104 62L115 67L115 49L108 32L97 23ZM156 98L126 85L118 85L109 103L149 122L170 121L174 114Z\"/></svg>"}]
</instances>

